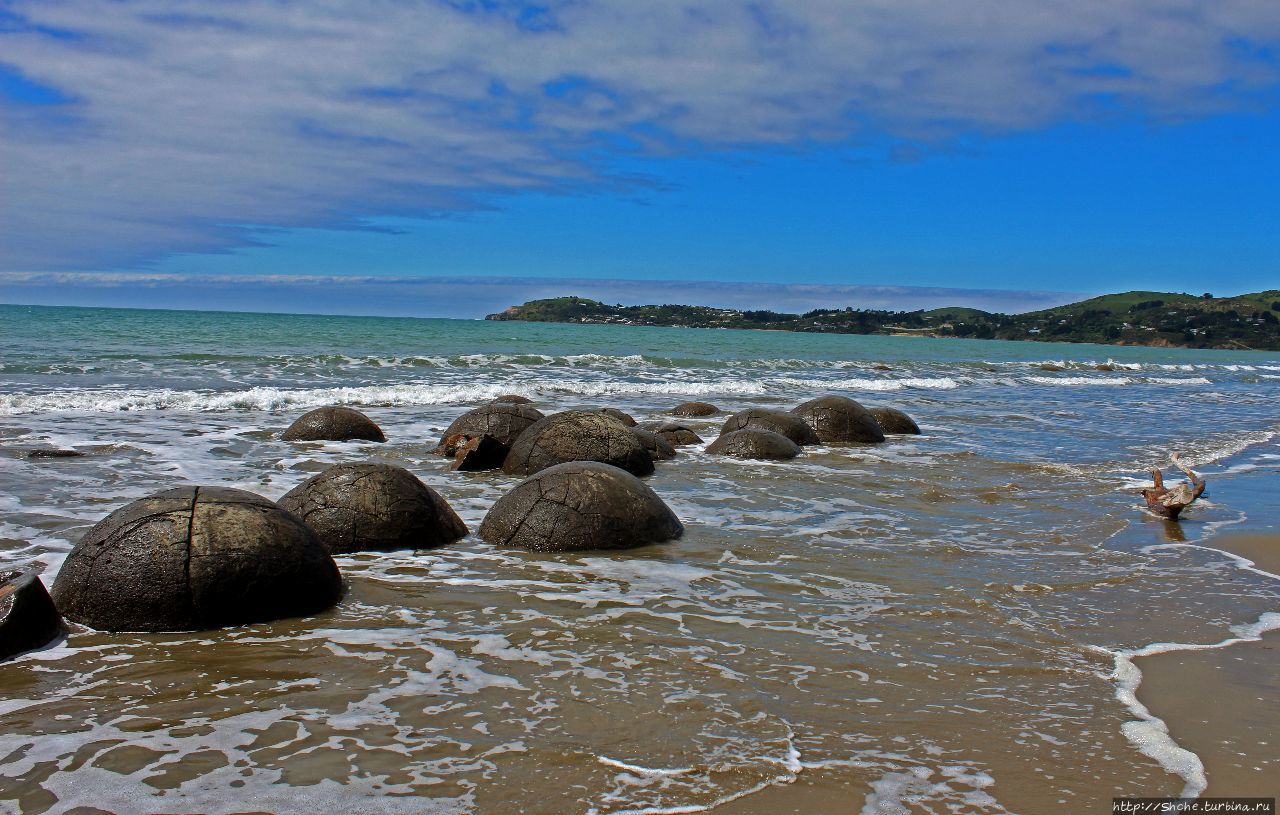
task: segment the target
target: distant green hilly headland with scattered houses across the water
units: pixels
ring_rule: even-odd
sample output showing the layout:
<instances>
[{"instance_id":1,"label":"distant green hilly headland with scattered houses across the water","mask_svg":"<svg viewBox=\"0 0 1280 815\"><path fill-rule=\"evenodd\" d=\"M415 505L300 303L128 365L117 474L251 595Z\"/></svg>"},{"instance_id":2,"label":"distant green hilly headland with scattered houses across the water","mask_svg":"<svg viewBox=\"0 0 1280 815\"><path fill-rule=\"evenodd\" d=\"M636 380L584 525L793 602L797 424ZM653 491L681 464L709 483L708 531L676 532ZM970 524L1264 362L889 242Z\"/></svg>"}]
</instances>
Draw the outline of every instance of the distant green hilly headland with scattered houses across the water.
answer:
<instances>
[{"instance_id":1,"label":"distant green hilly headland with scattered houses across the water","mask_svg":"<svg viewBox=\"0 0 1280 815\"><path fill-rule=\"evenodd\" d=\"M609 306L585 297L554 297L512 306L485 320L1280 351L1280 289L1221 298L1125 292L1019 315L964 307L815 308L795 315L710 306Z\"/></svg>"}]
</instances>

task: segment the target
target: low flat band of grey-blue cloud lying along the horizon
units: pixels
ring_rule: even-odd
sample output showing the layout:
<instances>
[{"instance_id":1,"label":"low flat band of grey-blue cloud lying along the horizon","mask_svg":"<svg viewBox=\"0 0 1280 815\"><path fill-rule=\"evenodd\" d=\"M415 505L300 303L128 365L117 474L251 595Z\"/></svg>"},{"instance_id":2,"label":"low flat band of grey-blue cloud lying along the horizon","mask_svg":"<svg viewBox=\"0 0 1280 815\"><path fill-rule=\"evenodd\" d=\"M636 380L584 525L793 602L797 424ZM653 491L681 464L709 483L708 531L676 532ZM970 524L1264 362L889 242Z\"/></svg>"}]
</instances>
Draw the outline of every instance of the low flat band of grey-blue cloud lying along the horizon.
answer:
<instances>
[{"instance_id":1,"label":"low flat band of grey-blue cloud lying along the horizon","mask_svg":"<svg viewBox=\"0 0 1280 815\"><path fill-rule=\"evenodd\" d=\"M915 310L972 306L1021 312L1079 301L1071 292L1006 292L908 285L808 285L585 278L393 278L330 275L183 275L4 273L0 302L193 308L403 317L483 317L543 297L577 294L627 306L681 303L723 308Z\"/></svg>"}]
</instances>

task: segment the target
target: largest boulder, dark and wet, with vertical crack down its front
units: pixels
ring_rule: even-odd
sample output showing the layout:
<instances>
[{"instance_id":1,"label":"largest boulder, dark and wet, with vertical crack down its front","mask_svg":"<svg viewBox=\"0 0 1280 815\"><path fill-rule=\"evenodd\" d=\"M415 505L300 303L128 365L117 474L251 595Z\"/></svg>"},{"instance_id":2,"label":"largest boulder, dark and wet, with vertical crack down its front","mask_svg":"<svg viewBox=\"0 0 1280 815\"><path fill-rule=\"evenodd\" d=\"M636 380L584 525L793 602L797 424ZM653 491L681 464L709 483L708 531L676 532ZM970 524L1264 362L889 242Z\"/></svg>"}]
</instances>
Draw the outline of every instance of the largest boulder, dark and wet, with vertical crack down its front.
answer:
<instances>
[{"instance_id":1,"label":"largest boulder, dark and wet, with vertical crack down its front","mask_svg":"<svg viewBox=\"0 0 1280 815\"><path fill-rule=\"evenodd\" d=\"M338 601L333 558L261 495L179 487L116 509L67 555L58 610L102 631L196 631L323 612Z\"/></svg>"}]
</instances>

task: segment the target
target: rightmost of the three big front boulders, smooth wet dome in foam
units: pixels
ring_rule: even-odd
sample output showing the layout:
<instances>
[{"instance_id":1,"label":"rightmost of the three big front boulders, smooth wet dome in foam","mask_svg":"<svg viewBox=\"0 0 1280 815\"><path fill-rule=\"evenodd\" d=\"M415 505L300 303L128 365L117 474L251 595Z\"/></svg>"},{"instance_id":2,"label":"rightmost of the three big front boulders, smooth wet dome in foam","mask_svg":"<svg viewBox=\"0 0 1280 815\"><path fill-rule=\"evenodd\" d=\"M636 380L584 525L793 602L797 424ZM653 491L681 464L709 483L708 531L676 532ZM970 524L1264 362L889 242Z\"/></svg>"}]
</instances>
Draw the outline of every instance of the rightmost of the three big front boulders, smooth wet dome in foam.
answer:
<instances>
[{"instance_id":1,"label":"rightmost of the three big front boulders, smooth wet dome in foam","mask_svg":"<svg viewBox=\"0 0 1280 815\"><path fill-rule=\"evenodd\" d=\"M598 462L548 467L498 499L480 537L531 551L631 549L680 537L675 513L640 479Z\"/></svg>"}]
</instances>

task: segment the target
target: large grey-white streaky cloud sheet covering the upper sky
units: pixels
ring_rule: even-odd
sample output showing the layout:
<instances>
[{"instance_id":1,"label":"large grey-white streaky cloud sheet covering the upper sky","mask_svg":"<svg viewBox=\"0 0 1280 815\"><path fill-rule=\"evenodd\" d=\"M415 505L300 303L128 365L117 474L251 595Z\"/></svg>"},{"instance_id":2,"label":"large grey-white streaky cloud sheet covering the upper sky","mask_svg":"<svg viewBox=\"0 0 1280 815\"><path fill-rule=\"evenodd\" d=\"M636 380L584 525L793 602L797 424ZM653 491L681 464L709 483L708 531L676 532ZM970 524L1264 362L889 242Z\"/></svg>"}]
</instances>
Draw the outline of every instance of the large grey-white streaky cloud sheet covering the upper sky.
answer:
<instances>
[{"instance_id":1,"label":"large grey-white streaky cloud sheet covering the upper sky","mask_svg":"<svg viewBox=\"0 0 1280 815\"><path fill-rule=\"evenodd\" d=\"M0 264L644 184L620 156L1243 109L1277 42L1275 0L10 0Z\"/></svg>"}]
</instances>

